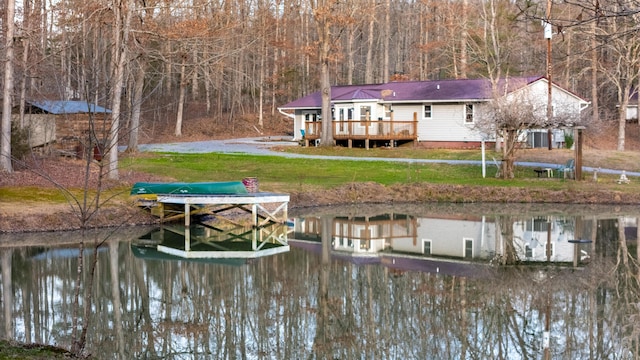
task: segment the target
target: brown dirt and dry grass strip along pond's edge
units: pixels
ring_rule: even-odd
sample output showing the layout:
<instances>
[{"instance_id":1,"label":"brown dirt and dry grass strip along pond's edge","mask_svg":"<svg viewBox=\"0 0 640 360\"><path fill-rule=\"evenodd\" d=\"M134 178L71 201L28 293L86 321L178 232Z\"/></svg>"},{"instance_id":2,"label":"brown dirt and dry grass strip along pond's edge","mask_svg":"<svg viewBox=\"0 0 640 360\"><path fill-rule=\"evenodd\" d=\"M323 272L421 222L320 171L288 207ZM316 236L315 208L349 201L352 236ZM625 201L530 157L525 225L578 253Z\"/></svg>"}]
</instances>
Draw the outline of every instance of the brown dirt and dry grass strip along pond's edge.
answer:
<instances>
[{"instance_id":1,"label":"brown dirt and dry grass strip along pond's edge","mask_svg":"<svg viewBox=\"0 0 640 360\"><path fill-rule=\"evenodd\" d=\"M367 204L503 203L503 204L588 204L640 205L640 194L612 190L523 189L435 184L377 183L345 184L332 190L291 192L290 212L302 208ZM102 207L89 222L90 228L157 224L158 219L127 202ZM66 204L0 203L0 233L77 230L77 213Z\"/></svg>"}]
</instances>

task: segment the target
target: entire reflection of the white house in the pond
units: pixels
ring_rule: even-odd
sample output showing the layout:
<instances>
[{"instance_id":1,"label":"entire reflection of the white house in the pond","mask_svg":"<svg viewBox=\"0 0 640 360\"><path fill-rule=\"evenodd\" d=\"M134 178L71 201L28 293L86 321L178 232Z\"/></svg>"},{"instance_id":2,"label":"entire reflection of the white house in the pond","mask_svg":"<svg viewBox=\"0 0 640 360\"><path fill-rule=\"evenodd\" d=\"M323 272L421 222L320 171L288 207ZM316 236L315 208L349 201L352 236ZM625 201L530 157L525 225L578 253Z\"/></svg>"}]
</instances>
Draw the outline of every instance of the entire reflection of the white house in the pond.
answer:
<instances>
[{"instance_id":1,"label":"entire reflection of the white house in the pond","mask_svg":"<svg viewBox=\"0 0 640 360\"><path fill-rule=\"evenodd\" d=\"M590 239L591 222L596 220L546 216L497 219L469 214L337 216L328 219L333 233L327 238L334 255L351 258L393 254L486 261L505 256L525 262L575 263L592 252L587 246L577 249L570 240L577 238L576 223L581 227L580 237ZM321 222L316 217L296 219L293 238L321 242ZM624 225L625 229L637 229L634 226L635 222ZM515 253L506 254L510 249Z\"/></svg>"}]
</instances>

